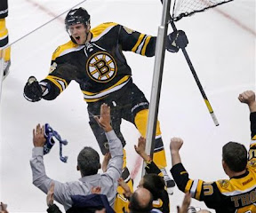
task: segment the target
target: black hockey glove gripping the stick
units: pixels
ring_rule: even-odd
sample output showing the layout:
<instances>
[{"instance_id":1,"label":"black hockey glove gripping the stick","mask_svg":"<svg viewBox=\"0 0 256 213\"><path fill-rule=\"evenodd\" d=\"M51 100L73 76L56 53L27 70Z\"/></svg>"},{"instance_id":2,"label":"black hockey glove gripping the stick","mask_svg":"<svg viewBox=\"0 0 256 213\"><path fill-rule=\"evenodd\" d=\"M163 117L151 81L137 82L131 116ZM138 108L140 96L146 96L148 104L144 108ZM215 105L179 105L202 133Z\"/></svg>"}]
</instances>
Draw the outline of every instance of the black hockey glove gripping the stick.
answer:
<instances>
[{"instance_id":1,"label":"black hockey glove gripping the stick","mask_svg":"<svg viewBox=\"0 0 256 213\"><path fill-rule=\"evenodd\" d=\"M188 45L188 38L184 31L173 31L167 36L166 49L171 52L178 52L180 48L185 48Z\"/></svg>"}]
</instances>

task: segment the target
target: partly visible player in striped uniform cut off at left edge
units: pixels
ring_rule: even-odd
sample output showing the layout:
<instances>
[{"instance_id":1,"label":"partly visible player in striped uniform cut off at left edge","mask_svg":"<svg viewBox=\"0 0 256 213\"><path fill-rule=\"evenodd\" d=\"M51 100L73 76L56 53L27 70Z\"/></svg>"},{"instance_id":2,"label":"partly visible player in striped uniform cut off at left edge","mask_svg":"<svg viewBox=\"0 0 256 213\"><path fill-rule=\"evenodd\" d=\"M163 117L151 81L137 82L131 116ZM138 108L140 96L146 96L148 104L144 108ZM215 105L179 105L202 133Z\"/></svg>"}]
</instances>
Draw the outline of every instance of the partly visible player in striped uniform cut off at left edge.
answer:
<instances>
[{"instance_id":1,"label":"partly visible player in striped uniform cut off at left edge","mask_svg":"<svg viewBox=\"0 0 256 213\"><path fill-rule=\"evenodd\" d=\"M7 47L8 29L5 26L5 18L8 16L8 2L7 0L0 0L0 57L4 58L4 78L9 74L11 66L11 48Z\"/></svg>"}]
</instances>

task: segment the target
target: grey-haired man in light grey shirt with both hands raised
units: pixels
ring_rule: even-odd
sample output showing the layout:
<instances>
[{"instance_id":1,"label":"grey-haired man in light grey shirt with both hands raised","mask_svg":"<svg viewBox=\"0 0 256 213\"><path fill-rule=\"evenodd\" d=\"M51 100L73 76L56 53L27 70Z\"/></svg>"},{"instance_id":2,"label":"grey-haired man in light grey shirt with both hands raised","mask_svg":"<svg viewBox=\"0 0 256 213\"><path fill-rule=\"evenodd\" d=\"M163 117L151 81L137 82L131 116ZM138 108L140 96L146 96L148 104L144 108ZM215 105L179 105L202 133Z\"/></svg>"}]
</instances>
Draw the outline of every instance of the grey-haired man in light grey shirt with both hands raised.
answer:
<instances>
[{"instance_id":1,"label":"grey-haired man in light grey shirt with both hands raised","mask_svg":"<svg viewBox=\"0 0 256 213\"><path fill-rule=\"evenodd\" d=\"M91 147L84 147L77 157L77 170L81 172L81 178L78 181L60 183L47 177L44 169L43 146L45 143L44 127L40 124L33 130L33 154L30 160L33 184L47 193L51 183L54 182L54 200L60 202L67 211L71 208L72 195L91 194L92 187L100 186L101 193L108 198L110 205L114 204L116 198L117 179L121 176L123 165L123 147L116 133L110 125L110 107L106 104L100 106L100 118L95 117L96 121L105 131L108 138L109 152L111 159L108 163L108 169L103 174L98 174L100 169L100 156Z\"/></svg>"}]
</instances>

